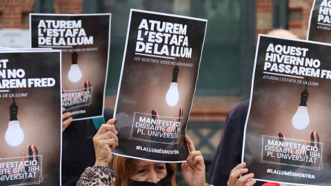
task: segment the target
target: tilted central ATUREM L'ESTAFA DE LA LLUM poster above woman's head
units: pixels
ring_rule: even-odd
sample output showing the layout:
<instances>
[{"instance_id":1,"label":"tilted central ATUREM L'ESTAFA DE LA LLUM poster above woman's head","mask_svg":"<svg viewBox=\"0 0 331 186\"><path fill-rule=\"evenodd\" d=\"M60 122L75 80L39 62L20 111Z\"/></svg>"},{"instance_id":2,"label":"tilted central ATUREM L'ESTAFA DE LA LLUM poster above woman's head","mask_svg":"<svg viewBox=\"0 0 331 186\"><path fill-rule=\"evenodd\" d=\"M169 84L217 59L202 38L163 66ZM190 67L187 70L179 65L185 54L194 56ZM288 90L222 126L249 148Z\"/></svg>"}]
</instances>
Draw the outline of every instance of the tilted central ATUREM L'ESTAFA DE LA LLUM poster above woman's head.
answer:
<instances>
[{"instance_id":1,"label":"tilted central ATUREM L'ESTAFA DE LA LLUM poster above woman's head","mask_svg":"<svg viewBox=\"0 0 331 186\"><path fill-rule=\"evenodd\" d=\"M119 156L183 162L207 20L131 10L114 117Z\"/></svg>"}]
</instances>

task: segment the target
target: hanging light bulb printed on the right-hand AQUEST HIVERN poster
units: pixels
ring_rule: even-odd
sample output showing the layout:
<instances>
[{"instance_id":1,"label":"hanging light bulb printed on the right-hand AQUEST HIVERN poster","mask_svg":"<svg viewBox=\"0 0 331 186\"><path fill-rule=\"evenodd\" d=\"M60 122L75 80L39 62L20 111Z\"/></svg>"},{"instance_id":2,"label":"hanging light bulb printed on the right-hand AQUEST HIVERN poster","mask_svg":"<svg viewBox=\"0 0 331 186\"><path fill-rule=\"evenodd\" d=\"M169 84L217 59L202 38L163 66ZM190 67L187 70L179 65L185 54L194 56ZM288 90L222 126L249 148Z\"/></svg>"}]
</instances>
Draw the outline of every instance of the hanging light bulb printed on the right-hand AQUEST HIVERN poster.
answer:
<instances>
[{"instance_id":1,"label":"hanging light bulb printed on the right-hand AQUEST HIVERN poster","mask_svg":"<svg viewBox=\"0 0 331 186\"><path fill-rule=\"evenodd\" d=\"M308 83L308 77L306 82ZM297 113L295 113L292 118L292 125L297 130L305 129L305 127L307 127L310 122L307 108L307 100L309 96L307 91L307 83L305 84L305 90L301 92L300 105L298 107Z\"/></svg>"}]
</instances>

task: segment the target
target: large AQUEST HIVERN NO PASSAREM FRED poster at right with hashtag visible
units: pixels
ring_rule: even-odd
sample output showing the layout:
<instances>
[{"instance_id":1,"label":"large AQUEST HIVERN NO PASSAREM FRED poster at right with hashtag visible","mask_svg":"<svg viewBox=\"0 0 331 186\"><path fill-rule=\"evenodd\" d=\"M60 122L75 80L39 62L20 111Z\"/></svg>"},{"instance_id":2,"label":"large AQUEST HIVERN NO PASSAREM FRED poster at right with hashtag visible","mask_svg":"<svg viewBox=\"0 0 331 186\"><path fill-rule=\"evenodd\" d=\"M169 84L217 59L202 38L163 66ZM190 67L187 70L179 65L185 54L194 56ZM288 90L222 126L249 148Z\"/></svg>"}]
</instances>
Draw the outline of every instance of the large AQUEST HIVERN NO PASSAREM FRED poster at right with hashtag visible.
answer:
<instances>
[{"instance_id":1,"label":"large AQUEST HIVERN NO PASSAREM FRED poster at right with hashtag visible","mask_svg":"<svg viewBox=\"0 0 331 186\"><path fill-rule=\"evenodd\" d=\"M259 35L242 154L257 180L330 185L330 51Z\"/></svg>"}]
</instances>

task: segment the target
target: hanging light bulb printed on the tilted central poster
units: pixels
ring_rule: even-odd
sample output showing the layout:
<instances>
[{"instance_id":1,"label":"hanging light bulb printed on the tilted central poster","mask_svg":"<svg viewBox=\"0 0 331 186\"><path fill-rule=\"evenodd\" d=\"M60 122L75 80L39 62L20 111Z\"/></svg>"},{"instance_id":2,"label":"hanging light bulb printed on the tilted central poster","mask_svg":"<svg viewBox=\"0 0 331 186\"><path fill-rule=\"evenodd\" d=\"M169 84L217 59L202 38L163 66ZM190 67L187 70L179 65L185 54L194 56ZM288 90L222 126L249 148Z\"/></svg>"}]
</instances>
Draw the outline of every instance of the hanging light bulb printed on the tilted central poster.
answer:
<instances>
[{"instance_id":1,"label":"hanging light bulb printed on the tilted central poster","mask_svg":"<svg viewBox=\"0 0 331 186\"><path fill-rule=\"evenodd\" d=\"M178 65L176 65L172 70L172 81L170 83L169 90L167 94L165 94L165 101L170 107L174 107L174 105L177 105L179 100L179 92L178 92L178 84L177 84L178 73L179 73L179 68Z\"/></svg>"}]
</instances>

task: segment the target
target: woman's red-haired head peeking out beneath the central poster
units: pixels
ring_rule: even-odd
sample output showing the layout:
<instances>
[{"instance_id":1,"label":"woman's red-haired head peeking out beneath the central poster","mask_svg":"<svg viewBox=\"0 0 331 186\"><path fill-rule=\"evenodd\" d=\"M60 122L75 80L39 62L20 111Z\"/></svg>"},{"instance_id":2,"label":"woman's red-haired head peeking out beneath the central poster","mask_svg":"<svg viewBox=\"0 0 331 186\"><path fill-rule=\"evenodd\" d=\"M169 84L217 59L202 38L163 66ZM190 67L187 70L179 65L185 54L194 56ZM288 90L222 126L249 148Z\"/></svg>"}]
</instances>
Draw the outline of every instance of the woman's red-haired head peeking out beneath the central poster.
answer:
<instances>
[{"instance_id":1,"label":"woman's red-haired head peeking out beneath the central poster","mask_svg":"<svg viewBox=\"0 0 331 186\"><path fill-rule=\"evenodd\" d=\"M129 185L129 180L157 183L168 175L172 185L176 185L176 164L143 161L123 156L115 156L113 165L116 172L116 185Z\"/></svg>"}]
</instances>

